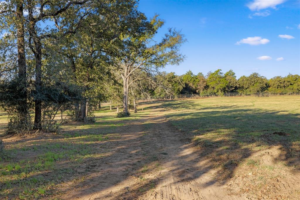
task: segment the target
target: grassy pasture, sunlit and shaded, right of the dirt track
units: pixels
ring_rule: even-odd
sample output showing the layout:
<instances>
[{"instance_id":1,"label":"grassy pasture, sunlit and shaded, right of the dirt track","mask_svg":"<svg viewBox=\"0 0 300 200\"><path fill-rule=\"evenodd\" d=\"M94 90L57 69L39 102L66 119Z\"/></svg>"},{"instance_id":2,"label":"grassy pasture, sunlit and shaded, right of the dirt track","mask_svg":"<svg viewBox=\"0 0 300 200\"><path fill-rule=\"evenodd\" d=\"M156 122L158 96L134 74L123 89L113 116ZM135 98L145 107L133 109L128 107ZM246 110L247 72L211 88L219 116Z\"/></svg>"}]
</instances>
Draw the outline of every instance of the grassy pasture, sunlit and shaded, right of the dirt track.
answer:
<instances>
[{"instance_id":1,"label":"grassy pasture, sunlit and shaded, right of the dirt track","mask_svg":"<svg viewBox=\"0 0 300 200\"><path fill-rule=\"evenodd\" d=\"M207 167L220 169L216 179L228 181L243 170L256 170L263 182L265 173L274 178L283 166L300 170L299 96L208 98L155 107L165 108L171 124L191 135L211 161ZM272 154L271 162L265 152Z\"/></svg>"}]
</instances>

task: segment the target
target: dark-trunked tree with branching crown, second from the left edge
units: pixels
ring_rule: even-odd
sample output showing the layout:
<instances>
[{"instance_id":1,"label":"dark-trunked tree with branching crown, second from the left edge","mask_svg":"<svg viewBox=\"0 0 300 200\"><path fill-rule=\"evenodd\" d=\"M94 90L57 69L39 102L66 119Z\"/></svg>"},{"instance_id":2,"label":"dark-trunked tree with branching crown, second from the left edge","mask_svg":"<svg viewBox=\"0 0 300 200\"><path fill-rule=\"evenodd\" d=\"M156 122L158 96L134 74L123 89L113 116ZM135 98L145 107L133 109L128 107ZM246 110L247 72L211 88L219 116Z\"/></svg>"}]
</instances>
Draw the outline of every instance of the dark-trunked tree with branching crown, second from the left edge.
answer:
<instances>
[{"instance_id":1,"label":"dark-trunked tree with branching crown, second from the left edge","mask_svg":"<svg viewBox=\"0 0 300 200\"><path fill-rule=\"evenodd\" d=\"M84 17L87 15L86 11L88 11L88 9L83 9L83 5L86 2L88 2L88 0L17 0L1 2L1 28L12 35L14 35L14 30L17 30L16 46L20 69L19 77L22 77L22 81L20 82L22 85L26 85L26 54L24 47L29 46L35 57L34 129L42 128L42 62L47 55L46 43L49 39L59 39L65 35L76 32L81 25L81 21L84 20ZM16 15L14 15L14 13L16 13ZM44 26L43 23L49 23L50 21L56 26ZM14 41L11 42L14 43ZM22 109L25 110L27 92L24 87L23 91L20 97L24 99L22 103L24 108Z\"/></svg>"}]
</instances>

